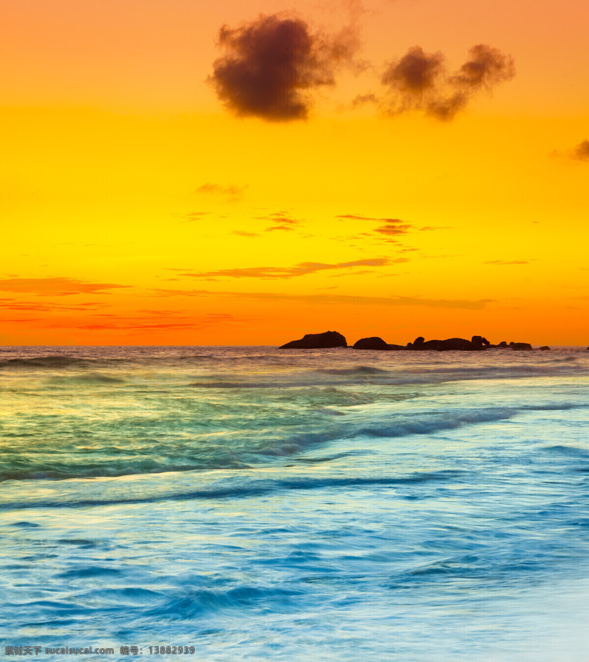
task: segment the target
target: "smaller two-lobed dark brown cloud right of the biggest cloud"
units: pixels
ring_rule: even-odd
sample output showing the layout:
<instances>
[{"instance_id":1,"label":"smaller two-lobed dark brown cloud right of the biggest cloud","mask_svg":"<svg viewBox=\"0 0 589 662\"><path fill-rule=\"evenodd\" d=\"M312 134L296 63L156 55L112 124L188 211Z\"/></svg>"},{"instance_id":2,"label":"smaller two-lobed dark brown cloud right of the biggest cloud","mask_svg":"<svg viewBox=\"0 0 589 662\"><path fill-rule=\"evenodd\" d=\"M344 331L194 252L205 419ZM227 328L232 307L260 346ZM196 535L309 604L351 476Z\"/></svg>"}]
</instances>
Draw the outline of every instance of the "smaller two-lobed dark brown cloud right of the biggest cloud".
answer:
<instances>
[{"instance_id":1,"label":"smaller two-lobed dark brown cloud right of the biggest cloud","mask_svg":"<svg viewBox=\"0 0 589 662\"><path fill-rule=\"evenodd\" d=\"M467 62L453 74L447 72L444 59L440 52L426 53L414 46L400 60L390 62L381 78L388 89L388 111L424 111L451 120L476 93L490 91L516 73L512 58L486 44L473 46Z\"/></svg>"}]
</instances>

